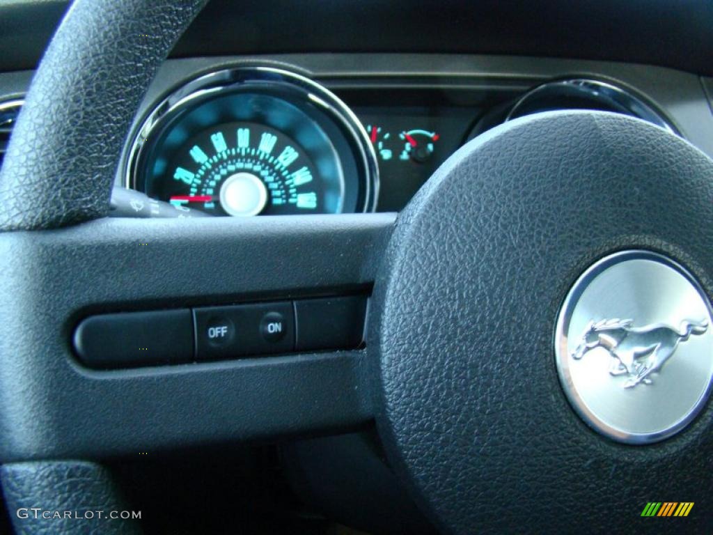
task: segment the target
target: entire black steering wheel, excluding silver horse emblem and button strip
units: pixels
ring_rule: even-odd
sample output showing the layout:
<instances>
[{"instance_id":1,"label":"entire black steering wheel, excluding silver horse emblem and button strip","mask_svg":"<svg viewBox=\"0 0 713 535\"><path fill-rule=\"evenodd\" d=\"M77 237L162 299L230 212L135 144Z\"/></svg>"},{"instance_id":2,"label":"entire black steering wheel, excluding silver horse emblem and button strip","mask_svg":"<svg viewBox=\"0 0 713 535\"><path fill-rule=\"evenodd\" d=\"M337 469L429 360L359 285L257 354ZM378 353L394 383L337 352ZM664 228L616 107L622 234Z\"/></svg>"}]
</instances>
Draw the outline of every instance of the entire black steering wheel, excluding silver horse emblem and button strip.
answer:
<instances>
[{"instance_id":1,"label":"entire black steering wheel, excluding silver horse emblem and button strip","mask_svg":"<svg viewBox=\"0 0 713 535\"><path fill-rule=\"evenodd\" d=\"M655 444L603 437L563 392L553 333L573 282L619 250L666 255L711 294L713 162L636 119L555 112L467 143L397 218L103 218L140 98L202 4L76 1L16 124L0 174L0 459L16 529L135 532L16 515L116 509L106 457L373 419L444 532L631 531L650 501L703 508L711 407ZM111 372L71 350L78 319L103 310L371 287L364 350Z\"/></svg>"}]
</instances>

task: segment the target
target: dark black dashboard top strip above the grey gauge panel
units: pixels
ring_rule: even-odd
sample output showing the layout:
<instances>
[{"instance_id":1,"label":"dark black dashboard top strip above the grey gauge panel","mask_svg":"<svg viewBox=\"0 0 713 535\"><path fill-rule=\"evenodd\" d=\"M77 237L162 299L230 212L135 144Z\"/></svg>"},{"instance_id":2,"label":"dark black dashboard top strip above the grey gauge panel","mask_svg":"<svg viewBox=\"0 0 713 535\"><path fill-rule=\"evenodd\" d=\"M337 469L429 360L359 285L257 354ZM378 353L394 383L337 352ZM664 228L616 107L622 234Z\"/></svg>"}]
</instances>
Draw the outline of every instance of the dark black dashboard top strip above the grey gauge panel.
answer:
<instances>
[{"instance_id":1,"label":"dark black dashboard top strip above the grey gauge panel","mask_svg":"<svg viewBox=\"0 0 713 535\"><path fill-rule=\"evenodd\" d=\"M14 52L0 56L0 69L33 68L63 6L33 0L0 5L0 50ZM713 4L706 0L212 0L173 56L518 54L635 61L712 74L711 26Z\"/></svg>"}]
</instances>

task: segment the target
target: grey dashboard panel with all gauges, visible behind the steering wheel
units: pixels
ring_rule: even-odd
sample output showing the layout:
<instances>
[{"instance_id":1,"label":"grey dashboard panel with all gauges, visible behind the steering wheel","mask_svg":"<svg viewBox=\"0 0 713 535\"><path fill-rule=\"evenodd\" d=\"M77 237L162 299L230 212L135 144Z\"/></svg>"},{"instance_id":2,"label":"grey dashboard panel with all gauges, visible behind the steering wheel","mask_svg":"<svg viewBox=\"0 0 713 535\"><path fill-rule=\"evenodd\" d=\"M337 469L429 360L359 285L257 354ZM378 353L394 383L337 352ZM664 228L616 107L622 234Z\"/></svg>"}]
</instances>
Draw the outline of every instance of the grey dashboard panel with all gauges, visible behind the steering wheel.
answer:
<instances>
[{"instance_id":1,"label":"grey dashboard panel with all gauges, visible behind the steering wheel","mask_svg":"<svg viewBox=\"0 0 713 535\"><path fill-rule=\"evenodd\" d=\"M0 73L6 136L28 82ZM399 211L463 143L539 111L625 113L711 155L707 83L655 66L507 56L170 59L116 185L207 215Z\"/></svg>"}]
</instances>

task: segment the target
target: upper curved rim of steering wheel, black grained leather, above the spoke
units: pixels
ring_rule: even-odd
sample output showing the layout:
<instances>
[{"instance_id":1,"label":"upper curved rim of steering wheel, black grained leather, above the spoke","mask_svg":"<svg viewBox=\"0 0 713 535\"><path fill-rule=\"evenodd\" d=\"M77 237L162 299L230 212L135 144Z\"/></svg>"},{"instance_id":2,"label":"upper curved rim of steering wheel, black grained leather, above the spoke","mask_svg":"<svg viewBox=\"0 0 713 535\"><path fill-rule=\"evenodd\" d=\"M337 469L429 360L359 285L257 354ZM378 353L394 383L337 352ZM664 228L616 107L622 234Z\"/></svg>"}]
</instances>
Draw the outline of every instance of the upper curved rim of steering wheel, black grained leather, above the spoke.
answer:
<instances>
[{"instance_id":1,"label":"upper curved rim of steering wheel, black grained leather, above the spoke","mask_svg":"<svg viewBox=\"0 0 713 535\"><path fill-rule=\"evenodd\" d=\"M207 0L78 0L48 46L0 170L0 230L106 215L121 148L160 63Z\"/></svg>"}]
</instances>

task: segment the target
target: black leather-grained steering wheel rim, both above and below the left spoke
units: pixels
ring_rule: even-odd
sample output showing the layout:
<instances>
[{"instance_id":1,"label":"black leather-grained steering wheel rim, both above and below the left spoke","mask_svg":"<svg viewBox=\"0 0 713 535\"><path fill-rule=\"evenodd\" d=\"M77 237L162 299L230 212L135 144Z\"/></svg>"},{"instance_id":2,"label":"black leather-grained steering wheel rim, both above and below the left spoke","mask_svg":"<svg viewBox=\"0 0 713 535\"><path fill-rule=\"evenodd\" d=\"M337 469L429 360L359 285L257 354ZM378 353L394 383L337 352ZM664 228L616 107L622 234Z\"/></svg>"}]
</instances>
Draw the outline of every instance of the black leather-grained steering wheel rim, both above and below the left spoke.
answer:
<instances>
[{"instance_id":1,"label":"black leather-grained steering wheel rim, both above and below the left spoke","mask_svg":"<svg viewBox=\"0 0 713 535\"><path fill-rule=\"evenodd\" d=\"M34 76L0 170L0 231L58 228L109 208L131 120L155 71L206 0L78 0ZM140 533L133 522L19 519L16 509L122 509L111 474L81 461L6 464L18 534ZM88 531L86 531L88 530Z\"/></svg>"}]
</instances>

